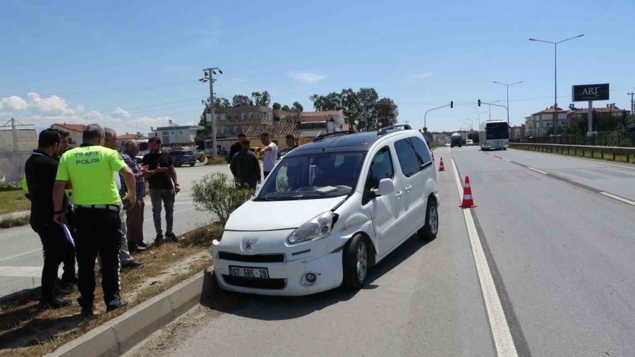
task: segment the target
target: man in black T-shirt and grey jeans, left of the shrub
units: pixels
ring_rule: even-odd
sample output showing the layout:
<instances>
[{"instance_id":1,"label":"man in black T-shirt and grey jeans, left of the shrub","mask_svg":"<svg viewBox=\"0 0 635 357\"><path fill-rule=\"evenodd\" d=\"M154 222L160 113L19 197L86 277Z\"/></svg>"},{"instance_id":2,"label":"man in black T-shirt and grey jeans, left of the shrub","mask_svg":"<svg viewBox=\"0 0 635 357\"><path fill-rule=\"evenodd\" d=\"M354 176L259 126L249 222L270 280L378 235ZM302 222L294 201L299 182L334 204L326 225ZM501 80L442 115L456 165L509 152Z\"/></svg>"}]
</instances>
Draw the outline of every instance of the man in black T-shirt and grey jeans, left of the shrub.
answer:
<instances>
[{"instance_id":1,"label":"man in black T-shirt and grey jeans, left of the shrub","mask_svg":"<svg viewBox=\"0 0 635 357\"><path fill-rule=\"evenodd\" d=\"M152 218L155 221L157 238L155 243L163 243L163 230L161 229L161 202L165 207L165 236L172 241L177 241L172 226L174 223L174 200L176 193L181 190L176 182L176 170L171 157L161 152L161 139L155 137L147 140L150 152L143 156L143 164L153 172L147 177L150 184L150 200L152 200ZM174 181L174 186L172 182Z\"/></svg>"}]
</instances>

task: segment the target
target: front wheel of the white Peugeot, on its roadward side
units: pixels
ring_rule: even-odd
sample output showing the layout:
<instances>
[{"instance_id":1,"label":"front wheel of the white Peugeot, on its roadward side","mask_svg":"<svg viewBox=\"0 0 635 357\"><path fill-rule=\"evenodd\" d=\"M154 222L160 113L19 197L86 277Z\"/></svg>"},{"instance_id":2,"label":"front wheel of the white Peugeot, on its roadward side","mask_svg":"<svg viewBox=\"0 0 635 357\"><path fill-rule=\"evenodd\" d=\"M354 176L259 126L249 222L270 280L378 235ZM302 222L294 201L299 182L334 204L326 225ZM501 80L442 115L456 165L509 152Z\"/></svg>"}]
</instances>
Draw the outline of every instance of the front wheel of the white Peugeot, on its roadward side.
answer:
<instances>
[{"instance_id":1,"label":"front wheel of the white Peugeot, on its roadward side","mask_svg":"<svg viewBox=\"0 0 635 357\"><path fill-rule=\"evenodd\" d=\"M357 234L344 246L344 282L347 289L361 289L368 273L368 243L364 236Z\"/></svg>"}]
</instances>

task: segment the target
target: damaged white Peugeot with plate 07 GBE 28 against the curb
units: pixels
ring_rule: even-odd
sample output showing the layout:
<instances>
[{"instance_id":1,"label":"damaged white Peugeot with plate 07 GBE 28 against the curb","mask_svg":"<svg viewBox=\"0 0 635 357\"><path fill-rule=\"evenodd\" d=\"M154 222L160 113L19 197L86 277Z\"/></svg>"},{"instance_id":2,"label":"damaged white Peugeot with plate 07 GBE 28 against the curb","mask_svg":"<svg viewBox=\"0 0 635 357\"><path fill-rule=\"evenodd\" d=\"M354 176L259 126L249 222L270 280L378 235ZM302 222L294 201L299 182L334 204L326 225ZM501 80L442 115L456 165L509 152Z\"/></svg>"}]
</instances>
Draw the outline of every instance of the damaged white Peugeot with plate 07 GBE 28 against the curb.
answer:
<instances>
[{"instance_id":1,"label":"damaged white Peugeot with plate 07 GBE 28 against the curb","mask_svg":"<svg viewBox=\"0 0 635 357\"><path fill-rule=\"evenodd\" d=\"M437 236L436 182L428 145L407 125L302 145L212 242L214 276L252 294L361 289L369 267L413 234Z\"/></svg>"}]
</instances>

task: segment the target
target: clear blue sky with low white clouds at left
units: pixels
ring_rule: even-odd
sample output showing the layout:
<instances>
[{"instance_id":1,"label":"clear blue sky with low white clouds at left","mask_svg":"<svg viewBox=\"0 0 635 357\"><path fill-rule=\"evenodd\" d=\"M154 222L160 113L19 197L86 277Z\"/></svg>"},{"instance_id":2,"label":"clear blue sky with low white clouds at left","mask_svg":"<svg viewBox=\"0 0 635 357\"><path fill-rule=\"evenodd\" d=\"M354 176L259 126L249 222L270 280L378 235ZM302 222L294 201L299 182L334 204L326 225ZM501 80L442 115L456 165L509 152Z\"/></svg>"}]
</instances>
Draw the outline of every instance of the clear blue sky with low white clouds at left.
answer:
<instances>
[{"instance_id":1,"label":"clear blue sky with low white clouds at left","mask_svg":"<svg viewBox=\"0 0 635 357\"><path fill-rule=\"evenodd\" d=\"M169 120L198 123L219 67L221 97L270 92L300 102L343 88L375 87L399 106L399 123L456 131L491 119L505 104L512 125L571 85L610 83L610 100L630 108L635 91L635 1L28 1L0 5L0 124L11 117L101 123L150 132ZM585 107L586 103L578 103ZM476 113L475 113L476 112ZM470 119L477 119L472 120Z\"/></svg>"}]
</instances>

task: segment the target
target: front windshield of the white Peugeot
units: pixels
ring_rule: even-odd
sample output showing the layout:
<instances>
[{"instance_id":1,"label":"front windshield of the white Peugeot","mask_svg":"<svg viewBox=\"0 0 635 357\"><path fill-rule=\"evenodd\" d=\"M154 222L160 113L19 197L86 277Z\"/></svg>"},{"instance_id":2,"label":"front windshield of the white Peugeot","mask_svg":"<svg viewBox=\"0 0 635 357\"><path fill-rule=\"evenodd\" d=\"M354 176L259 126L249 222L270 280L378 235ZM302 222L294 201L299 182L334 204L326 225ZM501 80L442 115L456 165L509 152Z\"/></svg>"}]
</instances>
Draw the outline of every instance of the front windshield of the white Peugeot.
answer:
<instances>
[{"instance_id":1,"label":"front windshield of the white Peugeot","mask_svg":"<svg viewBox=\"0 0 635 357\"><path fill-rule=\"evenodd\" d=\"M348 195L363 162L361 152L285 157L267 178L257 200L313 200Z\"/></svg>"}]
</instances>

